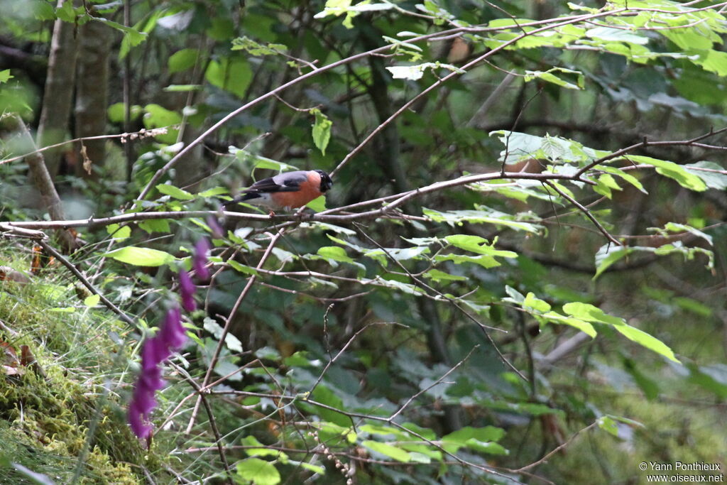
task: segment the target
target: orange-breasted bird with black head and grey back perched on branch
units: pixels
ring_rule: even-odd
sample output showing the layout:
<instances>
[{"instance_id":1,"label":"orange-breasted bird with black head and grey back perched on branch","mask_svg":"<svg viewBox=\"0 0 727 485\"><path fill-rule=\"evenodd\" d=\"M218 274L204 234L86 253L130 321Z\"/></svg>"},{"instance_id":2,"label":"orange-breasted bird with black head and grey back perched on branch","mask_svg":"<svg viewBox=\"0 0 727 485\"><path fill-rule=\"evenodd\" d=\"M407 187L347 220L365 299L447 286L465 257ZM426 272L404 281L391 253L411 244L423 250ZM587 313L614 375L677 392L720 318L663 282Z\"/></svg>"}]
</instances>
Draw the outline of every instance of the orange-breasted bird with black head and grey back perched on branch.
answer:
<instances>
[{"instance_id":1,"label":"orange-breasted bird with black head and grey back perched on branch","mask_svg":"<svg viewBox=\"0 0 727 485\"><path fill-rule=\"evenodd\" d=\"M285 172L275 177L258 180L242 191L244 195L225 202L223 205L247 202L268 207L271 211L295 209L317 199L326 193L331 185L333 185L333 180L323 170Z\"/></svg>"}]
</instances>

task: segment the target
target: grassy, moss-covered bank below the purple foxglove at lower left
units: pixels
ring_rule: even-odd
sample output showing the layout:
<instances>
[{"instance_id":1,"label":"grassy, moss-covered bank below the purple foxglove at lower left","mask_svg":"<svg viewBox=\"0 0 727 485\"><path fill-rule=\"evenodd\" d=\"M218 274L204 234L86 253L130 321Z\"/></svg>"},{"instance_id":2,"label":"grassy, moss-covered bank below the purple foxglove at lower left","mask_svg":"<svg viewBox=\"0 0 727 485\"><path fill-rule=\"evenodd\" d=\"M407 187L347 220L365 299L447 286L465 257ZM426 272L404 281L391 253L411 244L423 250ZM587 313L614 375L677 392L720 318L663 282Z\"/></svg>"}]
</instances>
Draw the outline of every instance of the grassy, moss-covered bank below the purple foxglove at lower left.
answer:
<instances>
[{"instance_id":1,"label":"grassy, moss-covered bank below the purple foxglove at lower left","mask_svg":"<svg viewBox=\"0 0 727 485\"><path fill-rule=\"evenodd\" d=\"M12 464L59 484L70 483L76 468L82 484L161 478L157 455L147 453L126 425L132 374L126 356L119 356L127 352L119 335L129 329L105 308L84 305L66 278L63 270L47 270L25 286L0 281L0 345L8 366L0 373L0 484L33 483ZM21 363L24 345L37 366ZM106 396L104 386L111 389ZM92 422L97 427L89 439Z\"/></svg>"}]
</instances>

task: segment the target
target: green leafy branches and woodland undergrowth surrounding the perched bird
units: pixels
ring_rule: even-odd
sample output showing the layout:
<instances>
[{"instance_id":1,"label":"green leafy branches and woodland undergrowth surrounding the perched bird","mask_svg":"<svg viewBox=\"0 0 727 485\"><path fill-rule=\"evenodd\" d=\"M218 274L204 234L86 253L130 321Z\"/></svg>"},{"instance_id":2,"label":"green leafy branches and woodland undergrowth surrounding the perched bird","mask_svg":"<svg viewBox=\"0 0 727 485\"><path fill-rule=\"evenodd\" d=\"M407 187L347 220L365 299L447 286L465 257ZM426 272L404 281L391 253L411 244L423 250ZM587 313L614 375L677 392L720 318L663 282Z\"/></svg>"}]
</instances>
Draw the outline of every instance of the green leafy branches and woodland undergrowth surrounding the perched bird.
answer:
<instances>
[{"instance_id":1,"label":"green leafy branches and woodland undergrowth surrounding the perched bird","mask_svg":"<svg viewBox=\"0 0 727 485\"><path fill-rule=\"evenodd\" d=\"M5 36L47 50L43 22L104 23L139 88L106 110L126 188L56 180L81 200L65 268L95 275L97 338L148 337L192 241L214 245L147 461L111 445L102 461L274 485L639 482L639 462L724 460L688 418L718 420L727 396L724 3L140 1L129 25L120 2L28 5ZM39 113L28 73L3 67L4 112ZM14 197L28 149L7 135L0 236L57 229ZM222 212L291 169L335 185L293 215ZM74 315L72 298L33 311ZM98 386L138 348L81 368ZM82 457L107 397L76 394L64 456Z\"/></svg>"}]
</instances>

